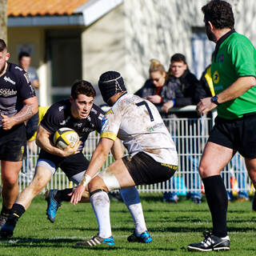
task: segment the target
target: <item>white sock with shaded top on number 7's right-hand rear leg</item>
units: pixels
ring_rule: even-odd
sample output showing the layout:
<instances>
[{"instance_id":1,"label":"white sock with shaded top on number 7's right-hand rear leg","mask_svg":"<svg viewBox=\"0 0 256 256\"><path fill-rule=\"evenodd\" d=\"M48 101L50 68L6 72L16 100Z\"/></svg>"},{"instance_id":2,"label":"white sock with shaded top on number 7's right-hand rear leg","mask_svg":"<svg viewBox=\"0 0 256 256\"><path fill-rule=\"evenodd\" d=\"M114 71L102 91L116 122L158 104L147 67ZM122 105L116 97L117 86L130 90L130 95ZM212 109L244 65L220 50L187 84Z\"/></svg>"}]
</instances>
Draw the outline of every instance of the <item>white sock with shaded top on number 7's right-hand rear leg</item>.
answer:
<instances>
[{"instance_id":1,"label":"white sock with shaded top on number 7's right-hand rear leg","mask_svg":"<svg viewBox=\"0 0 256 256\"><path fill-rule=\"evenodd\" d=\"M146 223L142 210L142 203L135 186L120 190L123 202L130 210L130 214L134 219L135 234L139 236L146 231Z\"/></svg>"}]
</instances>

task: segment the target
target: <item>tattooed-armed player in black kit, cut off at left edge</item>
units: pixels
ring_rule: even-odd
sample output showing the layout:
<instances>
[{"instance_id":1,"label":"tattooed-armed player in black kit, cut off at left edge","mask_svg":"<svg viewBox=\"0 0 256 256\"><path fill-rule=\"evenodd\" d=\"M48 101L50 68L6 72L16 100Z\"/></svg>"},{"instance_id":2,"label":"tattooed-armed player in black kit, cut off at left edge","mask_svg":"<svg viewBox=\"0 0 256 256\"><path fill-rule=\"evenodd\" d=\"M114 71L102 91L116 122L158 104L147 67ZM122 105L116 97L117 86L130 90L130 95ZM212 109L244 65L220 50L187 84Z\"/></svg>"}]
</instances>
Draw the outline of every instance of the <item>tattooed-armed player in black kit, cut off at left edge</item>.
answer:
<instances>
[{"instance_id":1,"label":"tattooed-armed player in black kit, cut off at left edge","mask_svg":"<svg viewBox=\"0 0 256 256\"><path fill-rule=\"evenodd\" d=\"M28 75L19 66L8 62L9 58L6 43L0 39L0 227L6 223L18 196L18 173L26 147L24 121L38 112L38 100Z\"/></svg>"}]
</instances>

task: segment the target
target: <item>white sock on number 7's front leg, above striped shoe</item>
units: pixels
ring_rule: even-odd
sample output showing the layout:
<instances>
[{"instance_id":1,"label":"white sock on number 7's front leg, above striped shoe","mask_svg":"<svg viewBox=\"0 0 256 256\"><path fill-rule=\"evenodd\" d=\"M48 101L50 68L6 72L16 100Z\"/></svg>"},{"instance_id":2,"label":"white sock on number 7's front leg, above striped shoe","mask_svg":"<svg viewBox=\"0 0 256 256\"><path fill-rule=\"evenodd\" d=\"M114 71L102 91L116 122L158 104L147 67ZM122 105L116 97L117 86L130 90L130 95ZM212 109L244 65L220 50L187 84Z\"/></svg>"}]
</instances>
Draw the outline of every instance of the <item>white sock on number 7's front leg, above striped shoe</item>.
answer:
<instances>
[{"instance_id":1,"label":"white sock on number 7's front leg, above striped shoe","mask_svg":"<svg viewBox=\"0 0 256 256\"><path fill-rule=\"evenodd\" d=\"M104 191L97 192L90 197L98 221L98 236L109 238L111 236L110 225L110 198Z\"/></svg>"}]
</instances>

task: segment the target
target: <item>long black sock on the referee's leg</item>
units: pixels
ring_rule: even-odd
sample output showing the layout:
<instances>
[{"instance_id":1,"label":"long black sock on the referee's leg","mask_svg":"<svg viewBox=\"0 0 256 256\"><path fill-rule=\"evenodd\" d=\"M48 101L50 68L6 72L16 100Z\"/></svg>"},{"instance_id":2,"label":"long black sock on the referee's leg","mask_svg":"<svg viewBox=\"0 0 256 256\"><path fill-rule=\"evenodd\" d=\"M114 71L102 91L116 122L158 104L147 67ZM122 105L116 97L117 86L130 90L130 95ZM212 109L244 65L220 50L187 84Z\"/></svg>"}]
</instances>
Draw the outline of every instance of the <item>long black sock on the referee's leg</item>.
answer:
<instances>
[{"instance_id":1,"label":"long black sock on the referee's leg","mask_svg":"<svg viewBox=\"0 0 256 256\"><path fill-rule=\"evenodd\" d=\"M213 234L219 238L227 235L226 210L227 196L226 188L220 175L202 178L205 186L206 199L213 220Z\"/></svg>"}]
</instances>

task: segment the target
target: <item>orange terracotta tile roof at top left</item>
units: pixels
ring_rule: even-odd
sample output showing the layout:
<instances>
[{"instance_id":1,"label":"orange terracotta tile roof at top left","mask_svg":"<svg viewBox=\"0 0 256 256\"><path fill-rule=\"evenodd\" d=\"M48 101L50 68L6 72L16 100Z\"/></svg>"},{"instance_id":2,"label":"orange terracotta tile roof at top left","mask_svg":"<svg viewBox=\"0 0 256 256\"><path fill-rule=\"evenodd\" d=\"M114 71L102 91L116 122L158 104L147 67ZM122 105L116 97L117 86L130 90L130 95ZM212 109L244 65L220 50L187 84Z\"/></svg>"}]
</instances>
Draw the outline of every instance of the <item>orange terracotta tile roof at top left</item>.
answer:
<instances>
[{"instance_id":1,"label":"orange terracotta tile roof at top left","mask_svg":"<svg viewBox=\"0 0 256 256\"><path fill-rule=\"evenodd\" d=\"M8 0L8 16L71 15L90 0Z\"/></svg>"}]
</instances>

